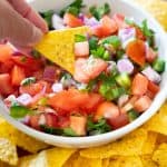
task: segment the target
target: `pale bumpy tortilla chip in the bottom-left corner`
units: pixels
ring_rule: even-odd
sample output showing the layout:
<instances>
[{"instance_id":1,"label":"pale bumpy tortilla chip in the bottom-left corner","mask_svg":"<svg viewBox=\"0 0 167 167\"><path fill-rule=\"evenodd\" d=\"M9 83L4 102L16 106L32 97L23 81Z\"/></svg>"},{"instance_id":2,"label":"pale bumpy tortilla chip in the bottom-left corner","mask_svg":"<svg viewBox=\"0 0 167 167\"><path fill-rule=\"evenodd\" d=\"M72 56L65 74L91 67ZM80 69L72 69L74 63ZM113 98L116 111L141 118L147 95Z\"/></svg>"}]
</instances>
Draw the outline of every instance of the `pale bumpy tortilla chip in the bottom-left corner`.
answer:
<instances>
[{"instance_id":1,"label":"pale bumpy tortilla chip in the bottom-left corner","mask_svg":"<svg viewBox=\"0 0 167 167\"><path fill-rule=\"evenodd\" d=\"M0 160L10 165L17 165L17 147L6 138L0 138Z\"/></svg>"}]
</instances>

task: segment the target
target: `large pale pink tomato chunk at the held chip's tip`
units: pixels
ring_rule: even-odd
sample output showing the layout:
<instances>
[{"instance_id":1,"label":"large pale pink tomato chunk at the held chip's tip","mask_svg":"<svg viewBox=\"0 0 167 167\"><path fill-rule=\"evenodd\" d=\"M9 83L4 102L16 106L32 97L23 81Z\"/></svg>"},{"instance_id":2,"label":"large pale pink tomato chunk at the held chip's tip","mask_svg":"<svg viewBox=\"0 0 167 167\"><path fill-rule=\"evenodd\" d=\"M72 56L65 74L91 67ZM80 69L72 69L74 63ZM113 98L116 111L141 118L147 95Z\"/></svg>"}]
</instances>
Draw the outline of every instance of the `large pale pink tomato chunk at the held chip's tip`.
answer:
<instances>
[{"instance_id":1,"label":"large pale pink tomato chunk at the held chip's tip","mask_svg":"<svg viewBox=\"0 0 167 167\"><path fill-rule=\"evenodd\" d=\"M73 78L79 82L89 82L90 79L99 76L106 68L107 62L101 59L94 58L89 59L78 59L75 65L75 76Z\"/></svg>"}]
</instances>

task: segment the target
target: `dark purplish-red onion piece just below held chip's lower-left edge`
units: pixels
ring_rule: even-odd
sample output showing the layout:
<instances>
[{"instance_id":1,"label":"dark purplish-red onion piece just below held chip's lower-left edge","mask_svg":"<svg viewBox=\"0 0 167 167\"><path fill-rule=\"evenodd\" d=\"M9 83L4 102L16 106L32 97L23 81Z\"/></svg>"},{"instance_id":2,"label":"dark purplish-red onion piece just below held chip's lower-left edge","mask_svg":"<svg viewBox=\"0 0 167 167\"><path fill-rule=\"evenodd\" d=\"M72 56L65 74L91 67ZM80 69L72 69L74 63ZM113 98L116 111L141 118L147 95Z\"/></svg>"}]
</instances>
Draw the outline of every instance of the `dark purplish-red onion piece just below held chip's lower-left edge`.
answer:
<instances>
[{"instance_id":1,"label":"dark purplish-red onion piece just below held chip's lower-left edge","mask_svg":"<svg viewBox=\"0 0 167 167\"><path fill-rule=\"evenodd\" d=\"M53 82L56 80L56 67L47 66L43 71L43 80Z\"/></svg>"}]
</instances>

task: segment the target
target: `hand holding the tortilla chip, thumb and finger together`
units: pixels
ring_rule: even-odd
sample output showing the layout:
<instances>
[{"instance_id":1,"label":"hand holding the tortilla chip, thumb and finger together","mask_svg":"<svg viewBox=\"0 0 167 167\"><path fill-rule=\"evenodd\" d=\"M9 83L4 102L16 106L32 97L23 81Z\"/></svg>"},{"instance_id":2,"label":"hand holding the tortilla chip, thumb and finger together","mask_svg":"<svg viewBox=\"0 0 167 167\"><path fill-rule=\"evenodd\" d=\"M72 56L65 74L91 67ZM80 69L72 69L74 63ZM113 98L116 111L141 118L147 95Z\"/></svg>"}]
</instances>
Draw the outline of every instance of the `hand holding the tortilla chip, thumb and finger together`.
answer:
<instances>
[{"instance_id":1,"label":"hand holding the tortilla chip, thumb and finger together","mask_svg":"<svg viewBox=\"0 0 167 167\"><path fill-rule=\"evenodd\" d=\"M0 0L0 40L27 50L47 31L46 21L24 0Z\"/></svg>"}]
</instances>

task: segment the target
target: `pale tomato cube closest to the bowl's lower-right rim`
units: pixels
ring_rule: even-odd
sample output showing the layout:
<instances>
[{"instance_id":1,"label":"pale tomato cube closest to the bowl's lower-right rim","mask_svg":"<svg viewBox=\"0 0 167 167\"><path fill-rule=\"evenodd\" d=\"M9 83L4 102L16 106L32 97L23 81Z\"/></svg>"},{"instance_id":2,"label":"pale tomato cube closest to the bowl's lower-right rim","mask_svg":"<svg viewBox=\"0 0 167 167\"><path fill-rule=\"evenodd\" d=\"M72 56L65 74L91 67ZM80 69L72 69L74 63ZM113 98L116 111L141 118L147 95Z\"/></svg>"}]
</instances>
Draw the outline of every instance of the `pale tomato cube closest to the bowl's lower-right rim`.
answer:
<instances>
[{"instance_id":1,"label":"pale tomato cube closest to the bowl's lower-right rim","mask_svg":"<svg viewBox=\"0 0 167 167\"><path fill-rule=\"evenodd\" d=\"M149 108L151 105L151 99L148 96L140 97L134 105L138 112L143 112Z\"/></svg>"}]
</instances>

